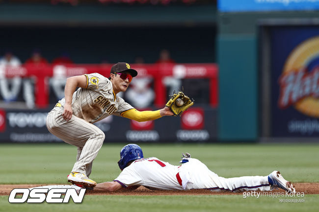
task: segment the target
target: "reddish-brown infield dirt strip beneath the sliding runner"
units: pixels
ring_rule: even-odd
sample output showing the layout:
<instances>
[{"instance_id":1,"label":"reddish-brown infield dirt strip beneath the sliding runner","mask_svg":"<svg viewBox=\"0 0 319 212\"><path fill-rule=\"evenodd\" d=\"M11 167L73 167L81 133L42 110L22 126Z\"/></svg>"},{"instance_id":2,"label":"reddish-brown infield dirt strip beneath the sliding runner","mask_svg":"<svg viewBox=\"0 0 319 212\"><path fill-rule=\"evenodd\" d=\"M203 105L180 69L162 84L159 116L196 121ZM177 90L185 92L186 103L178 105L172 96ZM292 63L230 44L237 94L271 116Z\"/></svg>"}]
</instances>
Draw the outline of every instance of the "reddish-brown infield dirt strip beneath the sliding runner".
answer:
<instances>
[{"instance_id":1,"label":"reddish-brown infield dirt strip beneath the sliding runner","mask_svg":"<svg viewBox=\"0 0 319 212\"><path fill-rule=\"evenodd\" d=\"M293 184L296 188L296 192L304 192L305 194L319 194L319 183L295 183ZM47 186L47 185L35 185L35 184L6 184L0 185L0 195L9 195L13 188L33 188L38 186ZM278 192L283 190L273 190L270 192ZM87 192L88 195L222 195L222 194L241 194L241 192L233 193L230 191L220 191L220 192L212 192L206 189L192 189L192 190L150 190L145 187L139 187L136 190L130 191L116 191L109 193L95 193L95 192Z\"/></svg>"}]
</instances>

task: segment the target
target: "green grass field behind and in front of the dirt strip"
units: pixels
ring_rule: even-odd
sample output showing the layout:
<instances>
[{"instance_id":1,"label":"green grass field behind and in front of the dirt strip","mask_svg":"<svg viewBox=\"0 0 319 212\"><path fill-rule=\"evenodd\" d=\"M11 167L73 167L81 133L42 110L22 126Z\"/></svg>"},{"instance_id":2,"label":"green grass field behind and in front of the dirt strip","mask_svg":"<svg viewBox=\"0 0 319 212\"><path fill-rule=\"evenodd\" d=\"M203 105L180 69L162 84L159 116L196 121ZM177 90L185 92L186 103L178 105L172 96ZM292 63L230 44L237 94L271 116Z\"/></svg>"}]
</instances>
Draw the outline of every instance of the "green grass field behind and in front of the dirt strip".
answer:
<instances>
[{"instance_id":1,"label":"green grass field behind and in front of the dirt strip","mask_svg":"<svg viewBox=\"0 0 319 212\"><path fill-rule=\"evenodd\" d=\"M223 177L268 175L280 170L292 182L319 182L318 144L143 144L144 157L158 157L178 165L182 152L201 160ZM123 144L104 144L93 163L90 177L97 182L118 176ZM0 184L66 184L76 157L69 144L1 144ZM286 197L284 197L286 198ZM304 203L280 203L278 198L242 195L121 196L87 195L81 204L10 204L0 196L0 212L28 211L318 211L318 194L306 195ZM72 201L70 201L72 202Z\"/></svg>"}]
</instances>

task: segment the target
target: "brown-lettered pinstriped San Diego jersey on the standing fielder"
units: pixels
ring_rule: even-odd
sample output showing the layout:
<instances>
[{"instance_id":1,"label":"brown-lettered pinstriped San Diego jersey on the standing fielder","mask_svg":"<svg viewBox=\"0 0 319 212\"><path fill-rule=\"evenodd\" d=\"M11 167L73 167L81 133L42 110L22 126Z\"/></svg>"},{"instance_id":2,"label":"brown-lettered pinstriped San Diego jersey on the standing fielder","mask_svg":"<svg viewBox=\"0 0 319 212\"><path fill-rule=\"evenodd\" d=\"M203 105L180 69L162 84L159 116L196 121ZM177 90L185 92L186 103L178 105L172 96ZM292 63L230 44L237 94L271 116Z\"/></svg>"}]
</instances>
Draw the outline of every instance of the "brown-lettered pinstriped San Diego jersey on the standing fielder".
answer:
<instances>
[{"instance_id":1,"label":"brown-lettered pinstriped San Diego jersey on the standing fielder","mask_svg":"<svg viewBox=\"0 0 319 212\"><path fill-rule=\"evenodd\" d=\"M129 103L114 94L108 78L99 73L84 75L87 78L86 88L79 88L72 97L74 116L94 123L110 115L120 116L121 113L133 109ZM65 98L59 103L63 107Z\"/></svg>"}]
</instances>

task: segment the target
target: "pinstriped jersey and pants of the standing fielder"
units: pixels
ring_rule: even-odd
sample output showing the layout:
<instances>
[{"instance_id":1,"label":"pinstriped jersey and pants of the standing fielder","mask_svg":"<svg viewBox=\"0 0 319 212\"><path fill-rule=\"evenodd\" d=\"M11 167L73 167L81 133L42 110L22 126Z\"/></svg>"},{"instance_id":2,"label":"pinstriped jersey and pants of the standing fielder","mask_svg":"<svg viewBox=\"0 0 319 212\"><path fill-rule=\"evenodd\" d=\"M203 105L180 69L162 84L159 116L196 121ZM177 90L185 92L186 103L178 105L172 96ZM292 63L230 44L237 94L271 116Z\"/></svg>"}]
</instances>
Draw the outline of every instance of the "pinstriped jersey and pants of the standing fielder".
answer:
<instances>
[{"instance_id":1,"label":"pinstriped jersey and pants of the standing fielder","mask_svg":"<svg viewBox=\"0 0 319 212\"><path fill-rule=\"evenodd\" d=\"M65 98L49 112L47 116L48 130L61 140L78 147L76 163L72 172L80 172L89 176L92 162L96 158L105 135L92 123L110 115L133 109L121 97L113 92L111 81L99 73L85 74L86 88L79 88L72 97L71 120L62 118Z\"/></svg>"}]
</instances>

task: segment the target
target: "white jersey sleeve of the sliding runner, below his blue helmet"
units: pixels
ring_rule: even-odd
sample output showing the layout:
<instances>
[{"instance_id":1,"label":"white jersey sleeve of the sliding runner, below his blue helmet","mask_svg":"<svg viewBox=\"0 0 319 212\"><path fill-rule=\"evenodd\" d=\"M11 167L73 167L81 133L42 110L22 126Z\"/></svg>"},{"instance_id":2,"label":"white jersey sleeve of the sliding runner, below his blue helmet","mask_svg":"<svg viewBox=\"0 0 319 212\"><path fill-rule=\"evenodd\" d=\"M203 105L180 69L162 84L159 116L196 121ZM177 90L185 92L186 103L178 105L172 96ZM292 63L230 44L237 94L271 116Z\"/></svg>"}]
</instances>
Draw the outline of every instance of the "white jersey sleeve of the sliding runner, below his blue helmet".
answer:
<instances>
[{"instance_id":1,"label":"white jersey sleeve of the sliding runner, below his blue helmet","mask_svg":"<svg viewBox=\"0 0 319 212\"><path fill-rule=\"evenodd\" d=\"M113 181L118 182L125 188L129 186L140 186L143 184L142 178L131 165L124 168L121 174Z\"/></svg>"}]
</instances>

